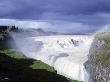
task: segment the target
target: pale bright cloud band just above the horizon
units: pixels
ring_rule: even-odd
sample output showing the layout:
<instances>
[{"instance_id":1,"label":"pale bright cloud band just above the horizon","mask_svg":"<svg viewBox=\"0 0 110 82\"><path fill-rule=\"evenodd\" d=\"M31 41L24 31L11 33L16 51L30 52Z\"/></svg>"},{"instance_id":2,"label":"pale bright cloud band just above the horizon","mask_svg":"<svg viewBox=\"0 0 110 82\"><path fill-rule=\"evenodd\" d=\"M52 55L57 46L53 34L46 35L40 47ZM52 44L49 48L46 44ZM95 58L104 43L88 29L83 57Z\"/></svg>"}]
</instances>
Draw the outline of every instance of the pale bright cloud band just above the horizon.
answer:
<instances>
[{"instance_id":1,"label":"pale bright cloud band just above the horizon","mask_svg":"<svg viewBox=\"0 0 110 82\"><path fill-rule=\"evenodd\" d=\"M0 25L15 25L19 28L42 28L47 31L63 32L63 33L93 33L99 31L100 28L105 30L110 24L106 25L87 25L84 23L70 21L19 21L10 19L0 19Z\"/></svg>"}]
</instances>

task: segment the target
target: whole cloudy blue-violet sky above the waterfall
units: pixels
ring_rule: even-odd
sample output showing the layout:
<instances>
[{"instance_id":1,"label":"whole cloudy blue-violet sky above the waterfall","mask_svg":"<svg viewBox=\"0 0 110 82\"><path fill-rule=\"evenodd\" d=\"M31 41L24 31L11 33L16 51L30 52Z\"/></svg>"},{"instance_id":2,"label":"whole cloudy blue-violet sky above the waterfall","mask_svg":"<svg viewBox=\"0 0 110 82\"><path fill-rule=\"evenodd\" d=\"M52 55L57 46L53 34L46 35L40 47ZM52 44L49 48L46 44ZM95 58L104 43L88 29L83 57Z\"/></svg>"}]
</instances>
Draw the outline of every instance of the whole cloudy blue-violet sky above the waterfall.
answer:
<instances>
[{"instance_id":1,"label":"whole cloudy blue-violet sky above the waterfall","mask_svg":"<svg viewBox=\"0 0 110 82\"><path fill-rule=\"evenodd\" d=\"M0 19L30 21L32 26L40 21L54 31L95 32L109 28L110 0L0 0Z\"/></svg>"}]
</instances>

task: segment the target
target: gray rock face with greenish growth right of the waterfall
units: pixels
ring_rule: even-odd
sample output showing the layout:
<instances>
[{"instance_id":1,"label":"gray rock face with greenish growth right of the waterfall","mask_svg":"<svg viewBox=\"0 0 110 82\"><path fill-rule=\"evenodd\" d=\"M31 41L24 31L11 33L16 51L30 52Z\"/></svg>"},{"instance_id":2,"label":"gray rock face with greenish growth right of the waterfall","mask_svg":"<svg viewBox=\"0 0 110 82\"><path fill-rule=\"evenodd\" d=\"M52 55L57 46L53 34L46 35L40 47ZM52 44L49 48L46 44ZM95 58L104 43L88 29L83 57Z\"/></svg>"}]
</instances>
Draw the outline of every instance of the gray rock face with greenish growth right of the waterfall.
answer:
<instances>
[{"instance_id":1,"label":"gray rock face with greenish growth right of the waterfall","mask_svg":"<svg viewBox=\"0 0 110 82\"><path fill-rule=\"evenodd\" d=\"M85 68L88 82L110 82L110 33L96 34Z\"/></svg>"}]
</instances>

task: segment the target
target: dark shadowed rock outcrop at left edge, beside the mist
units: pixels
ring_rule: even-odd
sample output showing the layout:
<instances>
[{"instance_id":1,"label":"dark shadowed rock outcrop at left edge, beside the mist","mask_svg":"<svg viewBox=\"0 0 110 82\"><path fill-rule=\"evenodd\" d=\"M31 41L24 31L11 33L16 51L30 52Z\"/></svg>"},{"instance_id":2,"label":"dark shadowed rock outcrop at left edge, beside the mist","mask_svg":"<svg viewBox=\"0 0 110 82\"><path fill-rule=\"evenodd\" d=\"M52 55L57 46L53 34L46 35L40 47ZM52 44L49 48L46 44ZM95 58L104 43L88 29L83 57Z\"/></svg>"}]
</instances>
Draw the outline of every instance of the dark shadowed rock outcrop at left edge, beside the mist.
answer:
<instances>
[{"instance_id":1,"label":"dark shadowed rock outcrop at left edge, beside the mist","mask_svg":"<svg viewBox=\"0 0 110 82\"><path fill-rule=\"evenodd\" d=\"M18 32L18 28L15 26L0 26L0 50L11 48L11 44L14 44L13 38L10 36L11 32Z\"/></svg>"}]
</instances>

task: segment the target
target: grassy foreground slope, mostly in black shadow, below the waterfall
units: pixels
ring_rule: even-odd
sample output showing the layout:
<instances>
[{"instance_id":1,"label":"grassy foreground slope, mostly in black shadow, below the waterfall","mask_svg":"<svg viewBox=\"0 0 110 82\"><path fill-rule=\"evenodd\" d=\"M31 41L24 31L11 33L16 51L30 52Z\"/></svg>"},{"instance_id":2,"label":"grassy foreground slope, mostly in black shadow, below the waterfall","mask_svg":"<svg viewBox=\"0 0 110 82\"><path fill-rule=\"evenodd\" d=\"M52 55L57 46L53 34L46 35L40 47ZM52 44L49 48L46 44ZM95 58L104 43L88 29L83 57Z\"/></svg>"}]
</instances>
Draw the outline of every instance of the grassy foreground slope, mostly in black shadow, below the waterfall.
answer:
<instances>
[{"instance_id":1,"label":"grassy foreground slope, mostly in black shadow, below the waterfall","mask_svg":"<svg viewBox=\"0 0 110 82\"><path fill-rule=\"evenodd\" d=\"M5 79L9 78L9 79ZM26 58L14 49L0 51L0 82L78 82L56 74L53 67Z\"/></svg>"}]
</instances>

